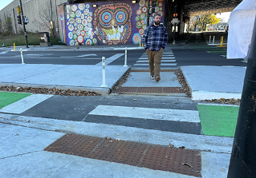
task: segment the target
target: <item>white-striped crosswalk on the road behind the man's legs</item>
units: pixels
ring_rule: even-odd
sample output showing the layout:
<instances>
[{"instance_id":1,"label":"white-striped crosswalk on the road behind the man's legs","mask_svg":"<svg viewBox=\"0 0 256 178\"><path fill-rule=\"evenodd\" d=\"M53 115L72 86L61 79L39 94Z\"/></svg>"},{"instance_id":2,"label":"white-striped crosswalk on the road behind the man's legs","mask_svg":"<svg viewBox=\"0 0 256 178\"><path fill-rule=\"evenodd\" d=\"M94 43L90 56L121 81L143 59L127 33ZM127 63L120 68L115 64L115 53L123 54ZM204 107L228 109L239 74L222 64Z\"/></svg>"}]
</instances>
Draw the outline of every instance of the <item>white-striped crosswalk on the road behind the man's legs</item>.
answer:
<instances>
[{"instance_id":1,"label":"white-striped crosswalk on the road behind the man's legs","mask_svg":"<svg viewBox=\"0 0 256 178\"><path fill-rule=\"evenodd\" d=\"M165 50L163 53L163 57L161 60L161 65L162 66L175 66L177 65L175 56L173 54L173 50L168 49ZM144 52L139 58L138 61L136 61L135 66L148 66L148 56L147 52Z\"/></svg>"}]
</instances>

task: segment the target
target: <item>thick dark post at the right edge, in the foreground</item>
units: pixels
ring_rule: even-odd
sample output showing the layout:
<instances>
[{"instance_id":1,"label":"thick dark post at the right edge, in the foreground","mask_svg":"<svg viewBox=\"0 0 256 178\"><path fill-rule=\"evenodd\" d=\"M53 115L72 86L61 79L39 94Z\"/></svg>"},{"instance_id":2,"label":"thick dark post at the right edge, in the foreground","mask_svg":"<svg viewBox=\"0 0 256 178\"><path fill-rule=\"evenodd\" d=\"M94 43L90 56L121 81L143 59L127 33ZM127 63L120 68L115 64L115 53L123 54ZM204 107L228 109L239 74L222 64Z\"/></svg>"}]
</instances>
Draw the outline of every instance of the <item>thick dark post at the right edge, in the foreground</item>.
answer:
<instances>
[{"instance_id":1,"label":"thick dark post at the right edge, in the foreground","mask_svg":"<svg viewBox=\"0 0 256 178\"><path fill-rule=\"evenodd\" d=\"M256 21L255 21L256 22ZM256 23L250 45L228 178L256 177Z\"/></svg>"}]
</instances>

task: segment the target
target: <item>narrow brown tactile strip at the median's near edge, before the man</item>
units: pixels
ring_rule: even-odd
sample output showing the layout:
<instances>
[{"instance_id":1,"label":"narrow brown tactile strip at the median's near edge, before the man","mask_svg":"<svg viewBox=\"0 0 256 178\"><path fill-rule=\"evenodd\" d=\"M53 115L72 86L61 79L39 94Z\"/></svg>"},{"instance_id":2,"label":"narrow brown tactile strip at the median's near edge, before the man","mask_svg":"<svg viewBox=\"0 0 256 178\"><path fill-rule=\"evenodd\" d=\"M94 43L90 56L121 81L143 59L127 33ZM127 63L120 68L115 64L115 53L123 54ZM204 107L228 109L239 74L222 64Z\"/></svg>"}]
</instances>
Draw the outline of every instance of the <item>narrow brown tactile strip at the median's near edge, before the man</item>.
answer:
<instances>
[{"instance_id":1,"label":"narrow brown tactile strip at the median's near edge, before the man","mask_svg":"<svg viewBox=\"0 0 256 178\"><path fill-rule=\"evenodd\" d=\"M120 87L115 93L185 93L181 87Z\"/></svg>"}]
</instances>

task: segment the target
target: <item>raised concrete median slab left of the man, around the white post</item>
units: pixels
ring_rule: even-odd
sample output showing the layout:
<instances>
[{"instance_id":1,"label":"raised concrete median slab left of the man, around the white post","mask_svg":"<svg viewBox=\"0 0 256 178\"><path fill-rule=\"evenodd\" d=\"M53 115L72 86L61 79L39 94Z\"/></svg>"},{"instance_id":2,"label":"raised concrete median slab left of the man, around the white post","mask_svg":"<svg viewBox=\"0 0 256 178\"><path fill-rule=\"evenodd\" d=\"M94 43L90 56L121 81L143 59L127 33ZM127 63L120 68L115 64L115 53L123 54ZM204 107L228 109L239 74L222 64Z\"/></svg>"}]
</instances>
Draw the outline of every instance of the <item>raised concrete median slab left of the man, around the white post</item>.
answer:
<instances>
[{"instance_id":1,"label":"raised concrete median slab left of the man, around the white post","mask_svg":"<svg viewBox=\"0 0 256 178\"><path fill-rule=\"evenodd\" d=\"M0 85L83 89L107 94L129 68L108 65L105 75L108 87L102 88L100 65L0 65Z\"/></svg>"}]
</instances>

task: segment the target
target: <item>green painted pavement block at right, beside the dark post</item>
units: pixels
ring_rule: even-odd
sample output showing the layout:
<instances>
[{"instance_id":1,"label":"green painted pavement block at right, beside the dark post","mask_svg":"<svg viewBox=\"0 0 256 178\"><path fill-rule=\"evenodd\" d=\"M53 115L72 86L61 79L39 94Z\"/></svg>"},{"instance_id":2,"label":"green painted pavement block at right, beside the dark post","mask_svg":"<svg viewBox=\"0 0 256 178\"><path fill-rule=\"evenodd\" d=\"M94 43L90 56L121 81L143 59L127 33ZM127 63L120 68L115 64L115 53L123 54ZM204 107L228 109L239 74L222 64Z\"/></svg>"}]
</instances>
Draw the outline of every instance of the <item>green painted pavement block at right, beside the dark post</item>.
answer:
<instances>
[{"instance_id":1,"label":"green painted pavement block at right, beside the dark post","mask_svg":"<svg viewBox=\"0 0 256 178\"><path fill-rule=\"evenodd\" d=\"M234 136L239 107L197 105L204 135Z\"/></svg>"}]
</instances>

